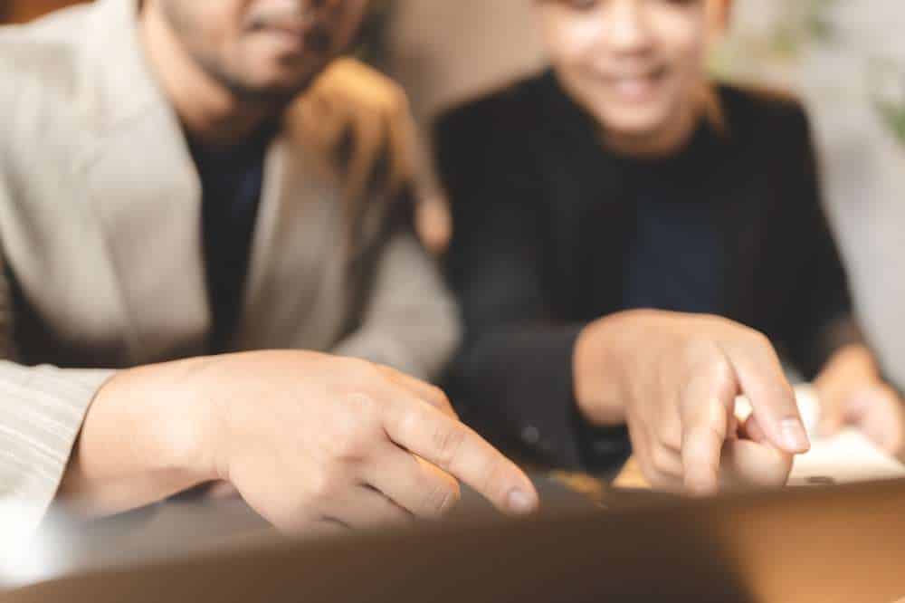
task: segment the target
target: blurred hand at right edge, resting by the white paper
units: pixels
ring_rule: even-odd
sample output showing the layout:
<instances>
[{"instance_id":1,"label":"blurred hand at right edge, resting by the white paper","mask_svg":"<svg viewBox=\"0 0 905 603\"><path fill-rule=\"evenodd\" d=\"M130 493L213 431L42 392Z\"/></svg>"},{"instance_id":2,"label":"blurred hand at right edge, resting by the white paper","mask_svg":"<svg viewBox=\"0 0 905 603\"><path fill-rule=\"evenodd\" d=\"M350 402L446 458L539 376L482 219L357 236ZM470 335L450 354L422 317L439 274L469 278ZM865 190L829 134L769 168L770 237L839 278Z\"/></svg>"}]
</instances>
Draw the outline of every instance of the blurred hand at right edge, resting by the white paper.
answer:
<instances>
[{"instance_id":1,"label":"blurred hand at right edge, resting by the white paper","mask_svg":"<svg viewBox=\"0 0 905 603\"><path fill-rule=\"evenodd\" d=\"M854 426L890 455L905 459L905 407L884 383L869 349L837 351L814 380L820 399L820 433L832 436Z\"/></svg>"}]
</instances>

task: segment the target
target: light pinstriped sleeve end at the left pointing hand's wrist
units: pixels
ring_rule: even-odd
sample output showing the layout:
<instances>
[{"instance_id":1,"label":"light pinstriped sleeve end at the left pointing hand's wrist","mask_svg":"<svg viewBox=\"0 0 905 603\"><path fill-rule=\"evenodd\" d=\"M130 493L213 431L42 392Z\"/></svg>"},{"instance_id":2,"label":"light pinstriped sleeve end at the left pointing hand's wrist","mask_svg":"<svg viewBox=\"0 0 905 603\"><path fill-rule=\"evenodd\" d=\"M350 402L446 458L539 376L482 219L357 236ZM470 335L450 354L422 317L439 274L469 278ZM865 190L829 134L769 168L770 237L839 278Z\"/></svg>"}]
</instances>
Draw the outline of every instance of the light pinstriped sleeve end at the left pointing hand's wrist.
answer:
<instances>
[{"instance_id":1,"label":"light pinstriped sleeve end at the left pointing hand's wrist","mask_svg":"<svg viewBox=\"0 0 905 603\"><path fill-rule=\"evenodd\" d=\"M0 505L27 533L50 508L85 413L112 371L17 364L13 321L0 257Z\"/></svg>"}]
</instances>

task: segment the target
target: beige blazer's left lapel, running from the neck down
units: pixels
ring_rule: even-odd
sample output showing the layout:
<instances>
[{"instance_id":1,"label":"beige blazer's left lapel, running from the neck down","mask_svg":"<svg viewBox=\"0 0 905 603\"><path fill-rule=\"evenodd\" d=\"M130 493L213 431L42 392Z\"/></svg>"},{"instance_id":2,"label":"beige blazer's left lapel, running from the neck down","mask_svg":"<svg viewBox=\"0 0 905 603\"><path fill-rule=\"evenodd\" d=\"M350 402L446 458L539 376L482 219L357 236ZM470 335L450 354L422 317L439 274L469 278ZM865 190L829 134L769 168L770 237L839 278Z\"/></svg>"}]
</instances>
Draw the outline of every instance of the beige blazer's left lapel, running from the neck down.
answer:
<instances>
[{"instance_id":1,"label":"beige blazer's left lapel, running from the neck down","mask_svg":"<svg viewBox=\"0 0 905 603\"><path fill-rule=\"evenodd\" d=\"M130 359L198 353L210 310L194 163L144 61L135 0L101 0L95 16L86 72L97 138L81 169L118 279Z\"/></svg>"}]
</instances>

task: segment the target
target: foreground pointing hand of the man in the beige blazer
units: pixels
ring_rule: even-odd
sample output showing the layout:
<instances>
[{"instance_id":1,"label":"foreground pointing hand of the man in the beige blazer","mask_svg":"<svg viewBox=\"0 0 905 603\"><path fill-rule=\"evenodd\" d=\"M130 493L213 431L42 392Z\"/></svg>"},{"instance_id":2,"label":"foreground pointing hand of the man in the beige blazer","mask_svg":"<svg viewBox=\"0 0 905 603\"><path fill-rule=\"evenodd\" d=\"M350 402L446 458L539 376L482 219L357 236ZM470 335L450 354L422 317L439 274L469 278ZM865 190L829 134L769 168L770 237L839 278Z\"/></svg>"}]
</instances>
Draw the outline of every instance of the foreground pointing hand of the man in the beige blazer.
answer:
<instances>
[{"instance_id":1,"label":"foreground pointing hand of the man in the beige blazer","mask_svg":"<svg viewBox=\"0 0 905 603\"><path fill-rule=\"evenodd\" d=\"M501 511L538 495L443 392L363 360L251 352L124 371L64 483L96 513L224 480L285 531L432 518L468 483Z\"/></svg>"}]
</instances>

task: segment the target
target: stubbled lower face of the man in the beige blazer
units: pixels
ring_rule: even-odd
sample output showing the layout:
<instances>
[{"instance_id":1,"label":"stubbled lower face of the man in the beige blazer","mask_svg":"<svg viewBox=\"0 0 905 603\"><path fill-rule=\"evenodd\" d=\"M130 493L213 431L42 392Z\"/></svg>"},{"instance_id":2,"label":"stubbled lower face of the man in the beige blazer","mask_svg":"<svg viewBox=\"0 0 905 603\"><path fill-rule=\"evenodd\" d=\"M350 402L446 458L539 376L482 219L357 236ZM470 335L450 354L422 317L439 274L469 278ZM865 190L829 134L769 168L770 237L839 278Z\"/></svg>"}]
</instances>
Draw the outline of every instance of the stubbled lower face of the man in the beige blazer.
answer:
<instances>
[{"instance_id":1,"label":"stubbled lower face of the man in the beige blazer","mask_svg":"<svg viewBox=\"0 0 905 603\"><path fill-rule=\"evenodd\" d=\"M357 31L367 0L146 0L205 72L245 98L303 90Z\"/></svg>"}]
</instances>

